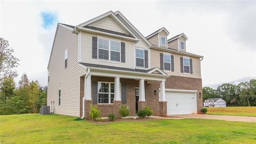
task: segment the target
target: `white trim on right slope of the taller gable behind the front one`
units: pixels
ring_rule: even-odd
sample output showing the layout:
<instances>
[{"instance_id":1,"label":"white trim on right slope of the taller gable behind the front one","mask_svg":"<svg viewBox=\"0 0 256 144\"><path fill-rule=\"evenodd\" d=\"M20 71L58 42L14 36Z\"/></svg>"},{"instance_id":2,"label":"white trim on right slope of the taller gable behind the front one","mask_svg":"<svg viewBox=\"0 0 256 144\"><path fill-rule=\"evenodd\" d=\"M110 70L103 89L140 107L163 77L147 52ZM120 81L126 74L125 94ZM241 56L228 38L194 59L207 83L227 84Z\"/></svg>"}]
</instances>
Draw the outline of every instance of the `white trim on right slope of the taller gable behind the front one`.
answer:
<instances>
[{"instance_id":1,"label":"white trim on right slope of the taller gable behind the front one","mask_svg":"<svg viewBox=\"0 0 256 144\"><path fill-rule=\"evenodd\" d=\"M135 34L139 35L142 38L142 41L144 41L146 44L148 44L148 46L151 46L151 43L148 41L148 39L145 36L143 36L140 33L140 31L137 28L135 28L132 25L132 23L129 20L127 20L120 11L116 11L115 14L119 15L119 17L121 17L121 20L123 20L126 23L126 25L128 25L128 27L131 28L131 30L134 31Z\"/></svg>"}]
</instances>

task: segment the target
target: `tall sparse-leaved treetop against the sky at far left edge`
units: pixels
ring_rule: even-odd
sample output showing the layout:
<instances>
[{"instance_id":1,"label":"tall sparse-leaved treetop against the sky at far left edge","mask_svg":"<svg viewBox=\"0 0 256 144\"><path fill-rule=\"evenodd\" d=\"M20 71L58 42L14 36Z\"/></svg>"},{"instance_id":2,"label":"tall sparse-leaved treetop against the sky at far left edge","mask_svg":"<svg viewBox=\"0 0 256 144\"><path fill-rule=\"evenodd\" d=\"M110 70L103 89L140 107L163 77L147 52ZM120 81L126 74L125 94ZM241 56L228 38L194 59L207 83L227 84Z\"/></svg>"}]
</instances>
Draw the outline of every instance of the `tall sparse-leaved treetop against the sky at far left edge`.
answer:
<instances>
[{"instance_id":1,"label":"tall sparse-leaved treetop against the sky at far left edge","mask_svg":"<svg viewBox=\"0 0 256 144\"><path fill-rule=\"evenodd\" d=\"M14 70L18 67L19 59L13 56L14 50L9 47L9 42L0 37L0 81L4 77L16 77L17 71Z\"/></svg>"}]
</instances>

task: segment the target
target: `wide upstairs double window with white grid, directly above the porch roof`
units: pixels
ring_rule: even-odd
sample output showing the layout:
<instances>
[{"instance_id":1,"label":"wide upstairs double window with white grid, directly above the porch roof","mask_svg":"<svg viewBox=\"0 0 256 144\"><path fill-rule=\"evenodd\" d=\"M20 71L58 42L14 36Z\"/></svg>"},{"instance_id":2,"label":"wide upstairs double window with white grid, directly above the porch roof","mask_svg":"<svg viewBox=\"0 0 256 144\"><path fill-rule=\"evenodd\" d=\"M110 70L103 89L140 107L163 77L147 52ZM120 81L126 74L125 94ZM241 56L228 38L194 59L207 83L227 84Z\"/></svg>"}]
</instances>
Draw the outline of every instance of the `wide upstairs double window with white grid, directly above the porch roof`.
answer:
<instances>
[{"instance_id":1,"label":"wide upstairs double window with white grid, directly above the porch roof","mask_svg":"<svg viewBox=\"0 0 256 144\"><path fill-rule=\"evenodd\" d=\"M120 42L98 39L98 59L120 61L120 50Z\"/></svg>"}]
</instances>

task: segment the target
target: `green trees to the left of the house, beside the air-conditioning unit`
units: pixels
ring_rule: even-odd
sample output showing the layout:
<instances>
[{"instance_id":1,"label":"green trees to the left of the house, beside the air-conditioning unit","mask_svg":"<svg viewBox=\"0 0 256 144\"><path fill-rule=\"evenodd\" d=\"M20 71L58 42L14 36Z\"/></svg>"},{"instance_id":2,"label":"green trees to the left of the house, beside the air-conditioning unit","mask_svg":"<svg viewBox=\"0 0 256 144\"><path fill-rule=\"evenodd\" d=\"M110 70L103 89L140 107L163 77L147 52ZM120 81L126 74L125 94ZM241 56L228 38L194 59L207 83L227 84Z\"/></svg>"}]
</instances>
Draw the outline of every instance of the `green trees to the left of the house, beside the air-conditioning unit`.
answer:
<instances>
[{"instance_id":1,"label":"green trees to the left of the house, beside the air-conditioning unit","mask_svg":"<svg viewBox=\"0 0 256 144\"><path fill-rule=\"evenodd\" d=\"M0 38L0 115L38 113L46 105L47 87L38 81L29 81L26 74L21 76L18 86L14 78L19 59L13 56L9 42Z\"/></svg>"}]
</instances>

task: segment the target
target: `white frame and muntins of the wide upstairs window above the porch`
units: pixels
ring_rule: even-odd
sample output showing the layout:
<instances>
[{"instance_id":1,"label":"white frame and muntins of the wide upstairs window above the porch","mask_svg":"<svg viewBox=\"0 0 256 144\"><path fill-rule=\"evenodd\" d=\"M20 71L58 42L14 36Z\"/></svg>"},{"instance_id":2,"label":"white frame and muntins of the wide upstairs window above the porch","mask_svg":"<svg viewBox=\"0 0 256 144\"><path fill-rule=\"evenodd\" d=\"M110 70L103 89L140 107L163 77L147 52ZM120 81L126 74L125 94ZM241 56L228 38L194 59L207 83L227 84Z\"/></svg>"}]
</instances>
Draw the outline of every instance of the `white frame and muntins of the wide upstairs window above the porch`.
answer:
<instances>
[{"instance_id":1,"label":"white frame and muntins of the wide upstairs window above the porch","mask_svg":"<svg viewBox=\"0 0 256 144\"><path fill-rule=\"evenodd\" d=\"M97 37L97 59L98 60L103 60L103 61L109 61L109 62L118 62L118 63L121 63L121 41L117 41L117 40L114 40L114 39L109 39L109 38L102 38L102 37ZM102 49L99 47L99 39L104 39L104 40L107 40L108 41L108 49ZM120 51L114 51L114 50L111 50L111 47L110 47L110 42L118 42L120 43ZM106 50L108 51L108 60L105 60L105 59L100 59L99 58L99 50ZM115 60L111 60L111 51L113 52L119 52L119 55L120 55L120 60L119 61L115 61Z\"/></svg>"}]
</instances>

